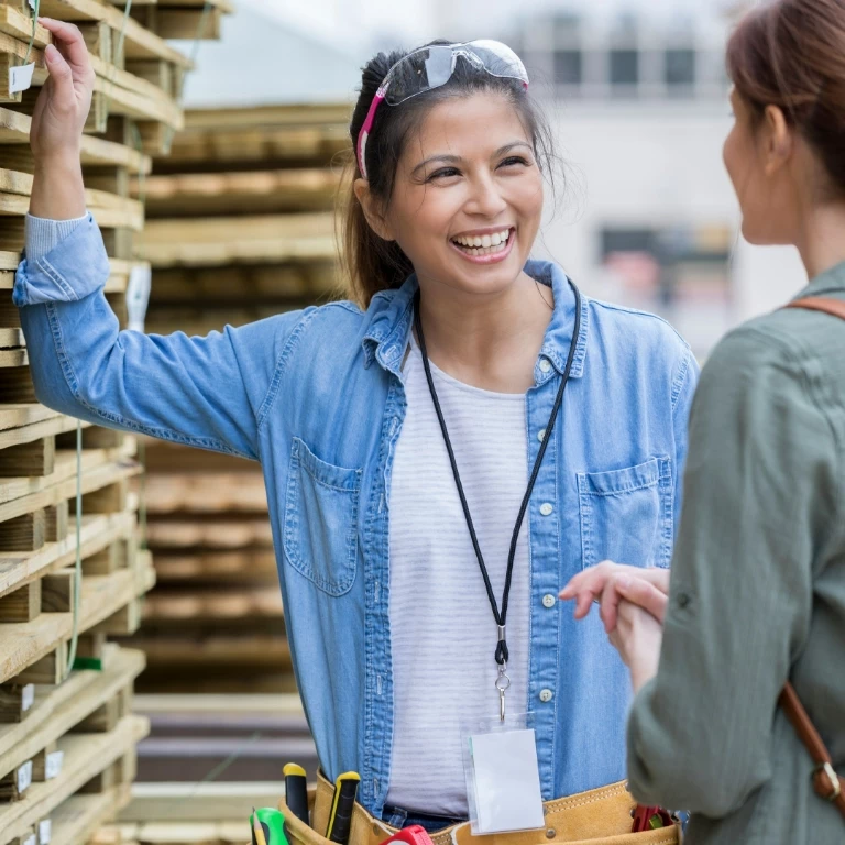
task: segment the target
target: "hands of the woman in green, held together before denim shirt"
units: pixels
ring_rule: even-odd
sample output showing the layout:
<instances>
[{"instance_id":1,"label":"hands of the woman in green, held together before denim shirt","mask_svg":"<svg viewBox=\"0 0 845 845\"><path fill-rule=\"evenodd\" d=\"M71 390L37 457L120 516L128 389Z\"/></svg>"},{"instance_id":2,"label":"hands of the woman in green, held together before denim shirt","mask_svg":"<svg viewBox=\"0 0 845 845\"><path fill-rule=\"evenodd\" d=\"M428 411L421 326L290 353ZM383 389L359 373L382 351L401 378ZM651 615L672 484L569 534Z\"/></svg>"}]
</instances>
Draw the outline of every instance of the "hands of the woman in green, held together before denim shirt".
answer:
<instances>
[{"instance_id":1,"label":"hands of the woman in green, held together before denim shirt","mask_svg":"<svg viewBox=\"0 0 845 845\"><path fill-rule=\"evenodd\" d=\"M579 572L560 592L582 619L593 602L611 643L630 669L634 691L657 674L669 593L669 570L604 561Z\"/></svg>"}]
</instances>

